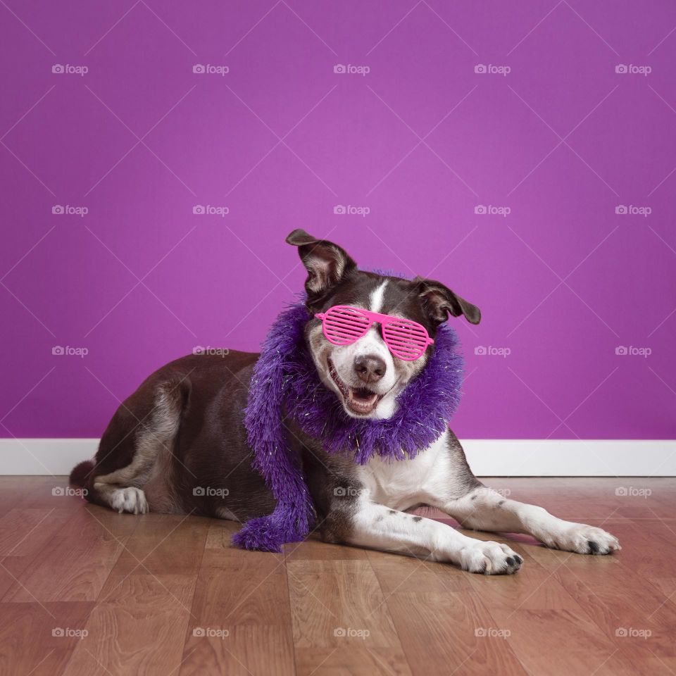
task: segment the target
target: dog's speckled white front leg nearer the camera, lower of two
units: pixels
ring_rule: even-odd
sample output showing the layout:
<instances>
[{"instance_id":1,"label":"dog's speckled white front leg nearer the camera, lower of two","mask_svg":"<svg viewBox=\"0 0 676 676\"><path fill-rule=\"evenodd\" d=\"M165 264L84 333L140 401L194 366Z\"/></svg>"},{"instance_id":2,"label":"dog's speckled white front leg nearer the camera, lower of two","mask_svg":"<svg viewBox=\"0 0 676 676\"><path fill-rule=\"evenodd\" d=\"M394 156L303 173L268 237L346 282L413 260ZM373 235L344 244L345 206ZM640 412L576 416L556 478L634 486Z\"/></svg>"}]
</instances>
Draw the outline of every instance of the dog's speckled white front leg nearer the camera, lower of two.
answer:
<instances>
[{"instance_id":1,"label":"dog's speckled white front leg nearer the camera, lower of two","mask_svg":"<svg viewBox=\"0 0 676 676\"><path fill-rule=\"evenodd\" d=\"M444 523L368 499L360 499L349 519L345 517L330 514L327 521L337 520L341 524L341 537L337 539L348 544L455 563L463 570L486 575L513 573L522 563L522 558L506 544L477 540Z\"/></svg>"}]
</instances>

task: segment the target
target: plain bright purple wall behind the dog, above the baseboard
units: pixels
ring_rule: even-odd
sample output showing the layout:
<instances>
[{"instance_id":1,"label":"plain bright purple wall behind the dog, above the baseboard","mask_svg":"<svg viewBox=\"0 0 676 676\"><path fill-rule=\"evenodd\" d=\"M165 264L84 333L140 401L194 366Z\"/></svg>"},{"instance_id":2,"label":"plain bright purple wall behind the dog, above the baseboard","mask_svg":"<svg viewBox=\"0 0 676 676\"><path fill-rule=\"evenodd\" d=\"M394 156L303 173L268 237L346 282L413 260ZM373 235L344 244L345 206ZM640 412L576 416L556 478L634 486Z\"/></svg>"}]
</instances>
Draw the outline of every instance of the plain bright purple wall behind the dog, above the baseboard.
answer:
<instances>
[{"instance_id":1,"label":"plain bright purple wall behind the dog, above the baseboard","mask_svg":"<svg viewBox=\"0 0 676 676\"><path fill-rule=\"evenodd\" d=\"M256 349L295 227L480 306L462 437L675 436L676 4L375 6L0 6L1 436Z\"/></svg>"}]
</instances>

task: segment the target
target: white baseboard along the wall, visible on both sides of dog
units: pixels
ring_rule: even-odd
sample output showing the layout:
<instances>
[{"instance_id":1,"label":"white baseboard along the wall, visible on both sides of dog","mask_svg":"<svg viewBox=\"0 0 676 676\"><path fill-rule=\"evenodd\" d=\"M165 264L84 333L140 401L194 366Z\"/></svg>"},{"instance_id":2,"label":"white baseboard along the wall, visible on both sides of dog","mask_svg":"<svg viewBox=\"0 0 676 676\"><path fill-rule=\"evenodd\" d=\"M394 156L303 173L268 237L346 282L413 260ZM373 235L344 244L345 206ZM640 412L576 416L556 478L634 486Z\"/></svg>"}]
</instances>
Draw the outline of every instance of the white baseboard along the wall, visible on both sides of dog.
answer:
<instances>
[{"instance_id":1,"label":"white baseboard along the wall, visible on both sides of dog","mask_svg":"<svg viewBox=\"0 0 676 676\"><path fill-rule=\"evenodd\" d=\"M480 477L672 477L676 441L462 439ZM64 475L99 439L0 439L0 475Z\"/></svg>"}]
</instances>

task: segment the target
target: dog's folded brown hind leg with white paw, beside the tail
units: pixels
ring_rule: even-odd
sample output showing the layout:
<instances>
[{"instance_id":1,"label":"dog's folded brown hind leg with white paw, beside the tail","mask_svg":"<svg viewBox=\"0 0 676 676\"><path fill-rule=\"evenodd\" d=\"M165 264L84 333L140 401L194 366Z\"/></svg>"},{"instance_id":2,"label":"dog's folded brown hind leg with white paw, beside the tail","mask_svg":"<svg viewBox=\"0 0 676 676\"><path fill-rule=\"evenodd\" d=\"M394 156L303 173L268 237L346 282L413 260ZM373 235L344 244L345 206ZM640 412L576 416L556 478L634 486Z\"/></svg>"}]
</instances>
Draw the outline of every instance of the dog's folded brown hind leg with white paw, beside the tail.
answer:
<instances>
[{"instance_id":1,"label":"dog's folded brown hind leg with white paw, beside the tail","mask_svg":"<svg viewBox=\"0 0 676 676\"><path fill-rule=\"evenodd\" d=\"M84 475L87 499L118 512L173 511L171 499L158 500L157 506L149 501L144 486L151 481L154 494L168 498L170 459L187 394L189 385L183 381L142 385L113 416L94 467L78 465L71 482Z\"/></svg>"}]
</instances>

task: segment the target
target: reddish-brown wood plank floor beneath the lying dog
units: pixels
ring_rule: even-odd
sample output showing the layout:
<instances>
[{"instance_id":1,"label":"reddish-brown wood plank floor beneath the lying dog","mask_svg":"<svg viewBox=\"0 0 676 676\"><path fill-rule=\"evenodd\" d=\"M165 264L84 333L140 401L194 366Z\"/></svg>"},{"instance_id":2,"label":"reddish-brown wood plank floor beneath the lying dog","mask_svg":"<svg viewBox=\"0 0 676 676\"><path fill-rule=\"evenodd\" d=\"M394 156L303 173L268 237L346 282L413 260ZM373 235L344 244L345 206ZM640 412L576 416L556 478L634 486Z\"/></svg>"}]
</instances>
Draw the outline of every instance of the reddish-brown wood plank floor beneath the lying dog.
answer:
<instances>
[{"instance_id":1,"label":"reddish-brown wood plank floor beneath the lying dog","mask_svg":"<svg viewBox=\"0 0 676 676\"><path fill-rule=\"evenodd\" d=\"M675 480L485 482L622 551L497 536L525 559L511 577L313 539L245 552L229 522L120 515L59 495L65 477L0 477L0 674L676 674Z\"/></svg>"}]
</instances>

